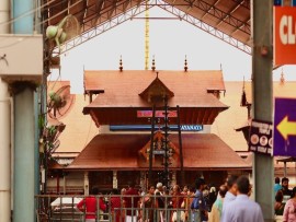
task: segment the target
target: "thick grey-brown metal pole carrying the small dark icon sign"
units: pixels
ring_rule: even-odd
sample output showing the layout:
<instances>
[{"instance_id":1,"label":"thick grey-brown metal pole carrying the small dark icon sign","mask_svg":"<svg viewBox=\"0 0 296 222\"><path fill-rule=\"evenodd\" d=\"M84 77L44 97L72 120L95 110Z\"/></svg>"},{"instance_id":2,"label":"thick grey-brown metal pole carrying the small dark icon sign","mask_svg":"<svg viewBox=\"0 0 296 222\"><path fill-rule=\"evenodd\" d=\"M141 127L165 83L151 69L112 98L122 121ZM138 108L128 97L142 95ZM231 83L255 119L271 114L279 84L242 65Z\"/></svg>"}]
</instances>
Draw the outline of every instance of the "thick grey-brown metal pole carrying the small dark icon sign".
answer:
<instances>
[{"instance_id":1,"label":"thick grey-brown metal pole carrying the small dark icon sign","mask_svg":"<svg viewBox=\"0 0 296 222\"><path fill-rule=\"evenodd\" d=\"M273 1L252 0L252 96L253 117L272 121L272 24ZM263 211L265 221L273 221L274 210L274 164L273 157L254 153L254 197ZM264 176L262 176L264 175Z\"/></svg>"}]
</instances>

